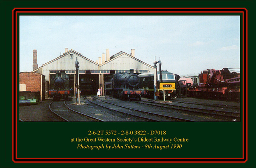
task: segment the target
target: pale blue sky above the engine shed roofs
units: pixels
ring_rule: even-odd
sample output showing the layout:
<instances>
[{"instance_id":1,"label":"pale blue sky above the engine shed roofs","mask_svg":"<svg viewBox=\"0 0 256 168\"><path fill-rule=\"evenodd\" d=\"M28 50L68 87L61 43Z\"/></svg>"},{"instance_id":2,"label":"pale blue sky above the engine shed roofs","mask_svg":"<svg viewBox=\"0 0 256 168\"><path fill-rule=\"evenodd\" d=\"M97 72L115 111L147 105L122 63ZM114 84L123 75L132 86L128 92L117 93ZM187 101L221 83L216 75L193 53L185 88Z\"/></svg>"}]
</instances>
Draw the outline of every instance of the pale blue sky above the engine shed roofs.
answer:
<instances>
[{"instance_id":1,"label":"pale blue sky above the engine shed roofs","mask_svg":"<svg viewBox=\"0 0 256 168\"><path fill-rule=\"evenodd\" d=\"M64 48L98 60L123 51L162 70L199 74L206 69L240 68L240 16L20 16L20 72L32 71Z\"/></svg>"}]
</instances>

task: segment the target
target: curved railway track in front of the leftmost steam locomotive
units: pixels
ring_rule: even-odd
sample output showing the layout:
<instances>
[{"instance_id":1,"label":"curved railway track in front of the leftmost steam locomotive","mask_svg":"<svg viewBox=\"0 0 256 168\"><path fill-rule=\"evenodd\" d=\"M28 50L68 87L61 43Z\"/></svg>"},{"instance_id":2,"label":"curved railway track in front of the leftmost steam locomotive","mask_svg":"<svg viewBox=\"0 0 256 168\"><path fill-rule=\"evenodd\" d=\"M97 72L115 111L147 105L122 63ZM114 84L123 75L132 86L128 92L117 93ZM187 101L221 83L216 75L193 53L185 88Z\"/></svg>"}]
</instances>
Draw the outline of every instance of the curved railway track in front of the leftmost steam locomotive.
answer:
<instances>
[{"instance_id":1,"label":"curved railway track in front of the leftmost steam locomotive","mask_svg":"<svg viewBox=\"0 0 256 168\"><path fill-rule=\"evenodd\" d=\"M52 101L49 104L49 109L65 121L104 121L71 109L66 105L66 100L59 102Z\"/></svg>"}]
</instances>

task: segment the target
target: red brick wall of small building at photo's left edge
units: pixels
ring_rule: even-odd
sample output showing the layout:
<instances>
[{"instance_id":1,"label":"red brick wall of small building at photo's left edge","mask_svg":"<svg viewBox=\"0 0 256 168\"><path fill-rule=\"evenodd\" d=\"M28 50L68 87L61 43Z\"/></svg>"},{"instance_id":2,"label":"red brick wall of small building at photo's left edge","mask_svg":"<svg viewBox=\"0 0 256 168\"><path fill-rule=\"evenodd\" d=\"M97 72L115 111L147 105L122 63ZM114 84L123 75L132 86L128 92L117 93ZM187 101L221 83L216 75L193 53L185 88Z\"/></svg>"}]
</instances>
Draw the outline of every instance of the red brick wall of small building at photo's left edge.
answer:
<instances>
[{"instance_id":1,"label":"red brick wall of small building at photo's left edge","mask_svg":"<svg viewBox=\"0 0 256 168\"><path fill-rule=\"evenodd\" d=\"M20 72L20 84L27 85L27 91L41 94L41 74L35 72Z\"/></svg>"}]
</instances>

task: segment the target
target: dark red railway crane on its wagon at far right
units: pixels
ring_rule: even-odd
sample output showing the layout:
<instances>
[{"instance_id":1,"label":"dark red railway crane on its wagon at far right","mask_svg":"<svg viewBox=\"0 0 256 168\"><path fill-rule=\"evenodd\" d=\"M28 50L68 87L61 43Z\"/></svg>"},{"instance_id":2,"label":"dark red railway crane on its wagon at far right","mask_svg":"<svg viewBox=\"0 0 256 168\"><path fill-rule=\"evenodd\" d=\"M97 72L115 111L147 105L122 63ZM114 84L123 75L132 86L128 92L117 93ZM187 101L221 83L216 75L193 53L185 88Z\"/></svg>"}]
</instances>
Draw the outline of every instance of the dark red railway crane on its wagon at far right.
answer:
<instances>
[{"instance_id":1,"label":"dark red railway crane on its wagon at far right","mask_svg":"<svg viewBox=\"0 0 256 168\"><path fill-rule=\"evenodd\" d=\"M240 76L236 72L230 72L228 68L204 70L199 74L199 85L189 88L188 95L240 100Z\"/></svg>"}]
</instances>

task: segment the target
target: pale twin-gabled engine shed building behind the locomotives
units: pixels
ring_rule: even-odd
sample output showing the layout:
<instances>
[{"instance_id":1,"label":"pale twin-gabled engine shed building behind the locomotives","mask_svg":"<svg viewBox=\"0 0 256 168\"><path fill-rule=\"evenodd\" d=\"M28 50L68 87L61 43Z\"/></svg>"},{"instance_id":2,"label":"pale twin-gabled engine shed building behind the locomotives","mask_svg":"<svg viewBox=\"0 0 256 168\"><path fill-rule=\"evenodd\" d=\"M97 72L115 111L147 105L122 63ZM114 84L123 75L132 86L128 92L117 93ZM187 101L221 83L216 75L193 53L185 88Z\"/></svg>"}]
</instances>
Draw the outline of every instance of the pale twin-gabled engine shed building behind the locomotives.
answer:
<instances>
[{"instance_id":1,"label":"pale twin-gabled engine shed building behind the locomotives","mask_svg":"<svg viewBox=\"0 0 256 168\"><path fill-rule=\"evenodd\" d=\"M34 51L33 51L34 53ZM37 57L37 55L36 55ZM150 64L144 63L137 59L134 55L134 49L131 50L131 54L120 51L110 57L109 49L106 49L105 54L102 54L96 62L84 57L82 54L74 50L68 50L65 48L65 52L43 64L39 68L34 69L32 72L38 72L45 75L45 80L50 81L53 74L58 72L65 72L70 74L70 88L75 88L76 68L75 61L79 62L79 78L80 82L90 82L90 85L94 85L94 88L86 94L95 94L97 89L102 88L104 93L104 83L111 82L112 75L117 72L129 72L130 69L134 69L134 73L140 74L144 72L154 72L154 67ZM33 66L34 67L34 66ZM81 83L80 83L81 86ZM86 85L84 85L86 87Z\"/></svg>"}]
</instances>

